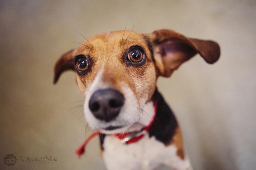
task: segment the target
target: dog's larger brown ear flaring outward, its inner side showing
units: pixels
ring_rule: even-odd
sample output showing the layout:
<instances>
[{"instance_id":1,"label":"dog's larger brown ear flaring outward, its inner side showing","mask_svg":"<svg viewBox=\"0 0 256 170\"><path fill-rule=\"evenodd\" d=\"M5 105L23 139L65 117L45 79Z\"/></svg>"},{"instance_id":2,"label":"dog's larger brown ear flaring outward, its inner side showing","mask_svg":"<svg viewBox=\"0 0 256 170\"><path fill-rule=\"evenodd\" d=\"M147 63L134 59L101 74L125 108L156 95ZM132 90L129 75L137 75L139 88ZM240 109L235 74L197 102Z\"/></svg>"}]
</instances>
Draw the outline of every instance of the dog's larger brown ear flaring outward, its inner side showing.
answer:
<instances>
[{"instance_id":1,"label":"dog's larger brown ear flaring outward, its inner side showing","mask_svg":"<svg viewBox=\"0 0 256 170\"><path fill-rule=\"evenodd\" d=\"M197 53L210 64L220 57L220 47L213 41L187 38L166 29L154 31L148 37L153 43L156 65L163 77L170 77L183 62Z\"/></svg>"}]
</instances>

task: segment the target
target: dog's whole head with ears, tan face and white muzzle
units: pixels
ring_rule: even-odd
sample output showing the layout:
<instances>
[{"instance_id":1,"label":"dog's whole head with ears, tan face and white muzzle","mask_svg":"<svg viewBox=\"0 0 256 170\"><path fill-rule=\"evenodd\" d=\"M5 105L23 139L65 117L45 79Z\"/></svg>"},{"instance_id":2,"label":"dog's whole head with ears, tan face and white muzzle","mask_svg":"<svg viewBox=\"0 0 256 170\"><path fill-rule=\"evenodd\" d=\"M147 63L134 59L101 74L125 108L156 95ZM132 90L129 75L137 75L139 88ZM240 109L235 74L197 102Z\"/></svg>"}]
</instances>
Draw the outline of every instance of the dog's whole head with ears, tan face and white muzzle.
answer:
<instances>
[{"instance_id":1,"label":"dog's whole head with ears, tan face and white muzzle","mask_svg":"<svg viewBox=\"0 0 256 170\"><path fill-rule=\"evenodd\" d=\"M55 64L54 82L63 71L76 71L85 96L84 114L94 130L122 133L148 125L159 76L170 77L199 53L208 63L220 56L216 42L187 38L171 30L150 34L113 31L85 40Z\"/></svg>"}]
</instances>

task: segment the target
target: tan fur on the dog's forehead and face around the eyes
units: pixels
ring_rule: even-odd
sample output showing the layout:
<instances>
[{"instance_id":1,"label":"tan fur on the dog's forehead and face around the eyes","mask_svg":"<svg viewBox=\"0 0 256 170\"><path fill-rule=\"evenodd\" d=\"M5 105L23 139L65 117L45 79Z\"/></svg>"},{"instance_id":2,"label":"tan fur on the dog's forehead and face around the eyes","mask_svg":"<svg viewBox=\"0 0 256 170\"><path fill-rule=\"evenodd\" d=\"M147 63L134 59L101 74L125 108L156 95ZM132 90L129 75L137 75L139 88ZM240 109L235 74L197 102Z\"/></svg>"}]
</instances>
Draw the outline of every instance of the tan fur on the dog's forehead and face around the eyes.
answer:
<instances>
[{"instance_id":1,"label":"tan fur on the dog's forehead and face around the eyes","mask_svg":"<svg viewBox=\"0 0 256 170\"><path fill-rule=\"evenodd\" d=\"M113 31L109 34L104 33L90 37L88 38L90 43L85 40L83 45L79 47L76 55L89 55L93 60L93 72L77 77L79 88L83 94L84 91L87 91L96 74L100 70L104 70L102 81L105 84L122 91L121 86L124 82L134 91L138 102L145 95L143 87L147 87L147 101L151 99L156 86L156 72L151 53L141 34L135 32L130 34L130 31L125 31L122 39L123 33L123 31ZM134 45L140 45L144 48L147 57L146 62L141 67L125 67L122 56L128 48ZM143 82L143 86L137 87L134 83L136 81Z\"/></svg>"}]
</instances>

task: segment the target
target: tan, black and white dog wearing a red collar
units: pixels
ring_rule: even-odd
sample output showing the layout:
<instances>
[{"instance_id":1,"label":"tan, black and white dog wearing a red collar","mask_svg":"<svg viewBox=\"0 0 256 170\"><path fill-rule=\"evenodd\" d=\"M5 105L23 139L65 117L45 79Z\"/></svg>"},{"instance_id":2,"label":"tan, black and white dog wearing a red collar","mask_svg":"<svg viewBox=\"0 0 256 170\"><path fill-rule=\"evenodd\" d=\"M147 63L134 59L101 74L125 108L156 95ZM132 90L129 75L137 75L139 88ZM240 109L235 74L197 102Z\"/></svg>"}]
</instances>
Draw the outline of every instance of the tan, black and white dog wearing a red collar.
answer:
<instances>
[{"instance_id":1,"label":"tan, black and white dog wearing a red collar","mask_svg":"<svg viewBox=\"0 0 256 170\"><path fill-rule=\"evenodd\" d=\"M99 135L108 170L156 170L162 165L192 170L178 122L156 82L195 54L212 64L220 47L168 29L148 34L124 30L85 38L58 59L54 83L64 71L76 71L85 118L96 130L90 138Z\"/></svg>"}]
</instances>

